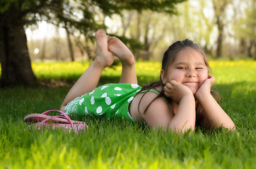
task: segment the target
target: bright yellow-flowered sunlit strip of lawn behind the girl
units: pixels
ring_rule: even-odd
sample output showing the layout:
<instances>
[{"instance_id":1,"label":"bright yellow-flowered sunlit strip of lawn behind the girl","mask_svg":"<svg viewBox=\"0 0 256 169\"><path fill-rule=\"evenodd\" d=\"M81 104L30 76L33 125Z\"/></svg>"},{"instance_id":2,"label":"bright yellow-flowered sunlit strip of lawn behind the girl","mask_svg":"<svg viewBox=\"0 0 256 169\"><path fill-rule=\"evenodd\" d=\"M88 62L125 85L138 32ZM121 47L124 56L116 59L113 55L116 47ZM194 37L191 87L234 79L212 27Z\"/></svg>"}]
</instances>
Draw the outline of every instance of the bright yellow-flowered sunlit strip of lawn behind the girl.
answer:
<instances>
[{"instance_id":1,"label":"bright yellow-flowered sunlit strip of lawn behind the girl","mask_svg":"<svg viewBox=\"0 0 256 169\"><path fill-rule=\"evenodd\" d=\"M255 80L255 61L209 61L213 70L213 75L216 76L216 83L226 84L237 81ZM77 80L86 68L88 62L66 62L66 63L33 63L33 71L40 80ZM139 82L145 83L153 80L158 80L161 69L159 62L139 62L136 63L136 73L139 77ZM103 77L117 77L115 82L121 75L121 65L116 65L113 68L106 68L103 72Z\"/></svg>"}]
</instances>

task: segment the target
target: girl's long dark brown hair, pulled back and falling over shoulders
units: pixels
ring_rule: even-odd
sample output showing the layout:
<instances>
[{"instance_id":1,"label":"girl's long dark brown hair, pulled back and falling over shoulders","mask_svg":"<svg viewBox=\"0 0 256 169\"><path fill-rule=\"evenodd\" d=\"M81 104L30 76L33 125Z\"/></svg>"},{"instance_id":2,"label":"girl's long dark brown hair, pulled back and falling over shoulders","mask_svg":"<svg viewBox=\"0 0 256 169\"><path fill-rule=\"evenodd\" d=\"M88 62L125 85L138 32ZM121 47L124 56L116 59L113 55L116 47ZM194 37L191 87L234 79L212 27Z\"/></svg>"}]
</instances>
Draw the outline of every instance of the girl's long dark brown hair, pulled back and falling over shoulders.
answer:
<instances>
[{"instance_id":1,"label":"girl's long dark brown hair, pulled back and falling over shoulders","mask_svg":"<svg viewBox=\"0 0 256 169\"><path fill-rule=\"evenodd\" d=\"M202 54L202 56L204 58L204 63L206 65L206 67L208 68L208 71L211 72L211 68L210 68L209 63L207 61L206 54L204 54L204 51L202 51L202 49L200 49L198 44L192 42L190 39L185 39L183 41L175 42L175 43L173 43L172 45L170 45L168 47L168 49L163 54L163 60L162 60L162 69L163 69L163 71L166 71L168 69L169 65L171 63L173 63L173 61L175 60L175 57L177 56L178 52L181 51L182 49L187 48L187 47L190 47L190 48L192 48L196 51L199 51ZM162 90L158 91L156 89L156 87L161 87ZM139 91L137 93L137 94L143 93L143 96L141 97L141 99L139 101L139 105L141 104L141 100L145 96L146 92L149 92L149 90L151 90L151 89L155 89L156 91L159 92L158 96L156 96L156 98L153 99L153 101L155 101L159 97L164 97L167 101L170 101L170 98L168 98L164 95L163 87L164 87L164 84L163 84L163 81L161 79L161 75L160 75L160 80L158 80L157 82L152 82L151 84L142 87L141 91ZM214 96L216 101L219 103L219 101L220 101L219 94L217 94L214 91L211 91L211 95ZM151 101L151 103L149 103L149 105L146 107L144 113L146 113L146 111L148 110L149 106L151 106L153 101ZM138 106L138 111L139 111L139 106ZM196 101L196 113L197 113L196 123L198 124L205 117L204 110L202 109L202 106L199 104L198 101Z\"/></svg>"}]
</instances>

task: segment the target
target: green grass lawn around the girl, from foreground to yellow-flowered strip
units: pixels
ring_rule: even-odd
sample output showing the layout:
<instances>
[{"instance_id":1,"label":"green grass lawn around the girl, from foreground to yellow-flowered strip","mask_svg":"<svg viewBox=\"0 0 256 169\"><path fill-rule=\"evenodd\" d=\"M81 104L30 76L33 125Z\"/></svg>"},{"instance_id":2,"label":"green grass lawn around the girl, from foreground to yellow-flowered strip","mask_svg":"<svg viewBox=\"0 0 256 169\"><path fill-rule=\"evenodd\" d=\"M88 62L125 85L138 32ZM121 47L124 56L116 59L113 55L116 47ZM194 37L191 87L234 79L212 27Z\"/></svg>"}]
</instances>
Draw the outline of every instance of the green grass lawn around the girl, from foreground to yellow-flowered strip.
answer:
<instances>
[{"instance_id":1,"label":"green grass lawn around the girl, from foreground to yellow-flowered strip","mask_svg":"<svg viewBox=\"0 0 256 169\"><path fill-rule=\"evenodd\" d=\"M29 130L29 113L58 109L88 63L33 63L39 80L61 87L0 89L0 168L256 168L254 61L211 61L214 89L237 130L191 136L150 130L126 120L72 117L88 123L81 135L64 130ZM48 68L47 68L48 66ZM160 63L137 63L139 84L158 80ZM118 82L120 66L107 69L100 84Z\"/></svg>"}]
</instances>

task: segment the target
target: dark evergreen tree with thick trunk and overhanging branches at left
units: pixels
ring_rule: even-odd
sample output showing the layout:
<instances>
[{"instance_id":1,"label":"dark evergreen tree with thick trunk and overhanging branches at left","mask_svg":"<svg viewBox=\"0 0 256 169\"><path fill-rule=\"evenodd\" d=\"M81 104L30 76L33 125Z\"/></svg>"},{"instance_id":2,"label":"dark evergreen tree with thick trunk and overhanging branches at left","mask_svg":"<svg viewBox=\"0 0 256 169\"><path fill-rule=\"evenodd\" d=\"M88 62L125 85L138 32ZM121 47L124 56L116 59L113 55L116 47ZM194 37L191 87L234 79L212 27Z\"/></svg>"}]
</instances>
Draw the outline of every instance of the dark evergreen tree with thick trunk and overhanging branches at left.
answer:
<instances>
[{"instance_id":1,"label":"dark evergreen tree with thick trunk and overhanging branches at left","mask_svg":"<svg viewBox=\"0 0 256 169\"><path fill-rule=\"evenodd\" d=\"M0 61L1 84L27 84L35 83L30 63L30 54L27 46L25 27L37 25L42 21L55 27L63 27L66 30L71 61L74 61L74 45L71 36L76 41L76 46L83 47L91 58L89 39L98 29L106 29L105 17L113 14L121 15L124 9L175 13L175 4L184 0L1 0L0 1ZM49 30L45 30L46 34ZM42 33L42 32L41 32ZM57 34L58 35L58 34ZM56 37L54 35L54 37ZM128 42L126 37L122 38ZM59 39L54 39L54 53L59 56ZM130 43L129 46L134 46ZM33 44L34 45L34 44ZM42 40L42 46L34 49L40 55L41 60L49 58L47 46L51 45L47 38ZM59 58L59 57L58 57Z\"/></svg>"}]
</instances>

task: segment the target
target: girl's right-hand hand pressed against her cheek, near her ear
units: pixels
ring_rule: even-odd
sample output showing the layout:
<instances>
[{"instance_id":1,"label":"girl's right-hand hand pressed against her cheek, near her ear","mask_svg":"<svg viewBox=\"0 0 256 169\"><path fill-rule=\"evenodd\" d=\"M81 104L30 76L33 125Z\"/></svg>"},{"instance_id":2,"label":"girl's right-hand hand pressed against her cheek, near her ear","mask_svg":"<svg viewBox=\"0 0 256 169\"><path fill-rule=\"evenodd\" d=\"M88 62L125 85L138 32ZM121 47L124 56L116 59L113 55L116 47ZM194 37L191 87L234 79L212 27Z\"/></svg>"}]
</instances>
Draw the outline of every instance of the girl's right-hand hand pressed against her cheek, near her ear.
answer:
<instances>
[{"instance_id":1,"label":"girl's right-hand hand pressed against her cheek, near her ear","mask_svg":"<svg viewBox=\"0 0 256 169\"><path fill-rule=\"evenodd\" d=\"M199 89L197 89L196 94L194 94L197 99L202 96L206 96L207 94L211 94L211 85L214 84L215 77L213 75L208 75L208 77L209 78L204 80Z\"/></svg>"}]
</instances>

